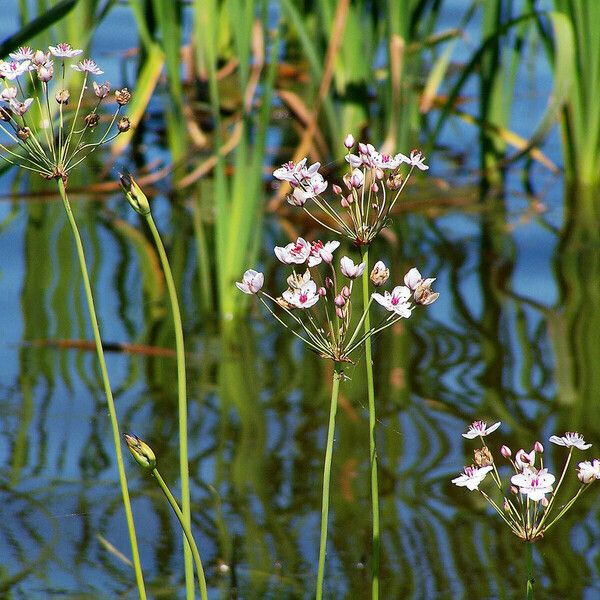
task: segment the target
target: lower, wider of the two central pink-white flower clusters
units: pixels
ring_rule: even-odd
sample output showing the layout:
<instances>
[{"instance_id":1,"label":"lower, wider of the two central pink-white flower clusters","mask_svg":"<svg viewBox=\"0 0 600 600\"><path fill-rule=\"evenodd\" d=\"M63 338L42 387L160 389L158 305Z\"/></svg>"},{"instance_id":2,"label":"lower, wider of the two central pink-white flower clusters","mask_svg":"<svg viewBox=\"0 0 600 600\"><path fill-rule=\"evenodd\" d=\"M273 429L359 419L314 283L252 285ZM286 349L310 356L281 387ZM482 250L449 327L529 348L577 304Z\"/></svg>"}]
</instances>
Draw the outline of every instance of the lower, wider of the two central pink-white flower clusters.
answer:
<instances>
[{"instance_id":1,"label":"lower, wider of the two central pink-white flower clusters","mask_svg":"<svg viewBox=\"0 0 600 600\"><path fill-rule=\"evenodd\" d=\"M336 268L333 253L339 245L337 241L308 242L298 238L287 246L276 246L275 256L293 268L287 278L288 288L280 296L273 297L263 292L264 275L252 269L246 271L242 281L236 282L236 285L245 294L258 295L269 312L288 327L273 310L281 308L303 331L298 333L292 329L294 335L323 358L352 362L350 354L364 340L400 319L407 319L415 305L431 304L439 294L431 290L433 278L423 279L419 271L412 268L404 277L404 285L397 285L391 292L383 294L373 292L358 322L352 326L354 280L363 274L365 264L355 264L351 258L343 256ZM378 261L370 275L372 284L382 286L388 278L389 269ZM361 335L361 327L373 300L388 314Z\"/></svg>"}]
</instances>

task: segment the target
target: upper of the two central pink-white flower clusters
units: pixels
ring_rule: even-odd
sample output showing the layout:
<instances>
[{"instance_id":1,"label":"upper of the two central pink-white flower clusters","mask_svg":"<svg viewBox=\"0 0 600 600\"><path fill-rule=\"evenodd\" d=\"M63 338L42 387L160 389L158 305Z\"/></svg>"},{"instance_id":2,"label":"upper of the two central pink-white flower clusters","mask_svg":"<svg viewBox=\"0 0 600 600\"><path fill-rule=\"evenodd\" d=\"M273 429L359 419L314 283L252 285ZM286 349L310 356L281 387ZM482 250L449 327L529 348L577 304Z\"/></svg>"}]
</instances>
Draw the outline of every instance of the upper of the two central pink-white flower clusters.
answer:
<instances>
[{"instance_id":1,"label":"upper of the two central pink-white flower clusters","mask_svg":"<svg viewBox=\"0 0 600 600\"><path fill-rule=\"evenodd\" d=\"M324 193L329 182L319 173L320 164L307 165L307 159L283 164L273 176L287 181L292 187L288 202L300 206L326 229L350 238L356 245L370 244L387 226L389 214L415 169L426 171L425 157L418 150L409 156L378 152L371 144L359 143L356 154L351 150L356 142L351 134L344 145L348 150L348 173L343 185L333 184L331 190L339 205L329 202ZM311 203L326 215L323 222L313 211Z\"/></svg>"}]
</instances>

